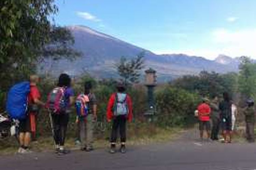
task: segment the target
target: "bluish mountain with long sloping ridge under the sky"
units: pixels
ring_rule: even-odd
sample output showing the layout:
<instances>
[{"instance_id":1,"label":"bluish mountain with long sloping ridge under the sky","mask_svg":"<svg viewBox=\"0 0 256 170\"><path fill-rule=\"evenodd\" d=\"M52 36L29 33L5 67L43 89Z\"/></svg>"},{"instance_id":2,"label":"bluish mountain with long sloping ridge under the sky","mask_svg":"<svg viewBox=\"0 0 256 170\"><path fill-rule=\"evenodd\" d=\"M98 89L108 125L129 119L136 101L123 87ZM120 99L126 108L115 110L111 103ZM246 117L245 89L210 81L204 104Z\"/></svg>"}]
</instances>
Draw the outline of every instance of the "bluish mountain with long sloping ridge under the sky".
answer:
<instances>
[{"instance_id":1,"label":"bluish mountain with long sloping ridge under the sky","mask_svg":"<svg viewBox=\"0 0 256 170\"><path fill-rule=\"evenodd\" d=\"M71 26L68 29L75 39L74 48L81 51L83 56L73 62L65 59L48 60L42 65L41 71L53 75L61 72L79 75L86 71L98 78L116 77L114 63L119 61L121 56L131 58L141 52L145 53L146 68L157 70L161 81L186 74L198 74L202 70L219 73L238 71L236 59L224 55L218 56L214 61L186 54L157 55L85 26Z\"/></svg>"}]
</instances>

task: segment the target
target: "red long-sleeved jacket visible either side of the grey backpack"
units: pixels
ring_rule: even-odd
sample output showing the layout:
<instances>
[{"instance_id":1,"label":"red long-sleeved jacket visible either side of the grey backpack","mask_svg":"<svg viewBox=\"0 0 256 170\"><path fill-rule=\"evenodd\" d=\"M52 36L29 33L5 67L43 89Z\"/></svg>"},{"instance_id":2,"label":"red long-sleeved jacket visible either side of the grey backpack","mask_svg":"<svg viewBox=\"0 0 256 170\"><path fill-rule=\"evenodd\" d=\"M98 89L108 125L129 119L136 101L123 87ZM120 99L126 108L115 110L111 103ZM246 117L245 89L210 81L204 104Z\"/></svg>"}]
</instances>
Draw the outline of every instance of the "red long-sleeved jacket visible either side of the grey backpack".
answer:
<instances>
[{"instance_id":1,"label":"red long-sleeved jacket visible either side of the grey backpack","mask_svg":"<svg viewBox=\"0 0 256 170\"><path fill-rule=\"evenodd\" d=\"M114 113L113 113L113 107L115 104L115 100L116 100L116 93L112 94L110 99L109 99L109 103L108 103L108 108L107 108L107 120L110 122L111 119L114 117ZM127 94L127 106L128 106L128 116L127 119L129 122L132 121L132 100L131 97Z\"/></svg>"}]
</instances>

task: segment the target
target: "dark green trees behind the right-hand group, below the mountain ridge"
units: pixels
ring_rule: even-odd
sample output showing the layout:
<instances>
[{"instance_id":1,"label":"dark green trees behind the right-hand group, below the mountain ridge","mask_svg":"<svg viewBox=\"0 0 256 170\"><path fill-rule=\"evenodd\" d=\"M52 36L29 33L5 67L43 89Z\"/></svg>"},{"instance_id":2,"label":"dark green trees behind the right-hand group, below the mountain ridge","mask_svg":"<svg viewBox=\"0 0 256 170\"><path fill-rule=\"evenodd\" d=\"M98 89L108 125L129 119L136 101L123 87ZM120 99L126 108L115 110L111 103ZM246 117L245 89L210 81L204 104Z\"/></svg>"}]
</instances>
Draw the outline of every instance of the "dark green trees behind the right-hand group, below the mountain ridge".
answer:
<instances>
[{"instance_id":1,"label":"dark green trees behind the right-hand group, below the mountain ridge","mask_svg":"<svg viewBox=\"0 0 256 170\"><path fill-rule=\"evenodd\" d=\"M238 75L236 73L218 74L202 71L199 75L187 75L171 82L174 87L197 92L201 96L222 96L223 92L231 94L237 91Z\"/></svg>"}]
</instances>

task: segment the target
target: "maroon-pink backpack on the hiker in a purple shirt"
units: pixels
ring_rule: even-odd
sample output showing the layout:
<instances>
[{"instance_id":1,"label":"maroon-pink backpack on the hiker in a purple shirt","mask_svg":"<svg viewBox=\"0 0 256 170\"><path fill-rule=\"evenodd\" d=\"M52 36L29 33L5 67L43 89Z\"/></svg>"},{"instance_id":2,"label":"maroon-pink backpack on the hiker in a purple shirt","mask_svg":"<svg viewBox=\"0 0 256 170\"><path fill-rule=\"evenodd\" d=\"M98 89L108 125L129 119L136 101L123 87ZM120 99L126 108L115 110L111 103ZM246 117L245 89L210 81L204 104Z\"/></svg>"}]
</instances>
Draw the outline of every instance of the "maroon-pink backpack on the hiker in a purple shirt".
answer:
<instances>
[{"instance_id":1,"label":"maroon-pink backpack on the hiker in a purple shirt","mask_svg":"<svg viewBox=\"0 0 256 170\"><path fill-rule=\"evenodd\" d=\"M65 92L66 88L56 87L48 94L46 107L51 113L60 114L66 111Z\"/></svg>"}]
</instances>

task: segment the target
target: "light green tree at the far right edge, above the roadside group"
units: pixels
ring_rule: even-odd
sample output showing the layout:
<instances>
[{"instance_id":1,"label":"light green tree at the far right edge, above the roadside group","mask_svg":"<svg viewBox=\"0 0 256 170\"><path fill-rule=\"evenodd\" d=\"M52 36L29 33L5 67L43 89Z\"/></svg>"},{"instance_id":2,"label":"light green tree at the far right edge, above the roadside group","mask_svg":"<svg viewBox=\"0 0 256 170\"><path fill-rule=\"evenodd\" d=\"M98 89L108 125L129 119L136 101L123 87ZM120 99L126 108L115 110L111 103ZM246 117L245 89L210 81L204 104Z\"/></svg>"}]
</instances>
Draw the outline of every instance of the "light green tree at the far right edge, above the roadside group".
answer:
<instances>
[{"instance_id":1,"label":"light green tree at the far right edge, above the roadside group","mask_svg":"<svg viewBox=\"0 0 256 170\"><path fill-rule=\"evenodd\" d=\"M243 97L256 97L256 64L248 57L241 58L239 66L239 91Z\"/></svg>"}]
</instances>

